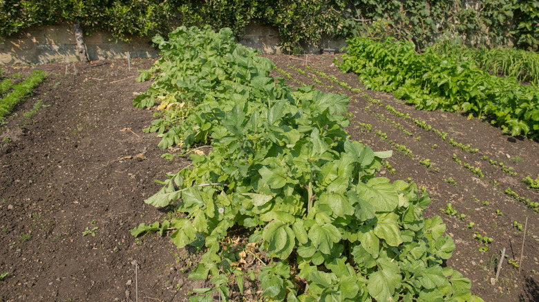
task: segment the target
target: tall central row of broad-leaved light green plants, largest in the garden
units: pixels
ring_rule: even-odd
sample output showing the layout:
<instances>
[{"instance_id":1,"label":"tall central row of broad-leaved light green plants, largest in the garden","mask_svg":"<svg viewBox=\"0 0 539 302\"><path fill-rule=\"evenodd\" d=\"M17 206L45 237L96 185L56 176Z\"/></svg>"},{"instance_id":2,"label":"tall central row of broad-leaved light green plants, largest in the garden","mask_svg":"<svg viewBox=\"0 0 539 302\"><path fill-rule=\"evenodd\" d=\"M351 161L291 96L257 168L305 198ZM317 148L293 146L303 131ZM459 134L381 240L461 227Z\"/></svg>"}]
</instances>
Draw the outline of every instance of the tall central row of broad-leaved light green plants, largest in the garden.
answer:
<instances>
[{"instance_id":1,"label":"tall central row of broad-leaved light green plants, largest in the garden","mask_svg":"<svg viewBox=\"0 0 539 302\"><path fill-rule=\"evenodd\" d=\"M212 148L191 154L191 166L146 199L175 203L187 218L131 233L173 231L178 248L207 248L189 276L211 276L214 287L195 290L191 301L227 301L246 277L274 300L482 301L468 279L440 265L455 245L440 217L422 217L428 196L414 183L375 177L390 153L350 141L346 97L274 81L271 61L234 43L231 30L178 28L169 41L154 41L162 59L140 79L155 82L133 103L189 103L193 110L164 126L167 134L178 127L173 143ZM257 272L227 248L238 226L254 253L272 256Z\"/></svg>"}]
</instances>

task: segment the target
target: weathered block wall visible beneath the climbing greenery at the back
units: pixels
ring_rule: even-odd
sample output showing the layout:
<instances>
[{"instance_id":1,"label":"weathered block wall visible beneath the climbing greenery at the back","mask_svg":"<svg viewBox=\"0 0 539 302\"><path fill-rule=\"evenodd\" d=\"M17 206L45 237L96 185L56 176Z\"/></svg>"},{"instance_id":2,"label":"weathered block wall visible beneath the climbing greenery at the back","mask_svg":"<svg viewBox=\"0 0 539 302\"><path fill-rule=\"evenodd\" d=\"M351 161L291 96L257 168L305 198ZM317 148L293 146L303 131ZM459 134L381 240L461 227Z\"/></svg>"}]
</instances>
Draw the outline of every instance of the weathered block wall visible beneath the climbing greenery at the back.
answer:
<instances>
[{"instance_id":1,"label":"weathered block wall visible beneath the climbing greenery at the back","mask_svg":"<svg viewBox=\"0 0 539 302\"><path fill-rule=\"evenodd\" d=\"M84 28L83 28L84 30ZM84 30L86 33L86 30ZM127 52L132 58L157 57L158 50L151 46L149 39L130 37L131 41L116 41L109 32L93 30L84 37L88 57L92 60L125 59ZM245 35L238 42L255 48L264 54L280 53L278 32L269 26L249 24ZM344 39L322 39L316 44L305 44L308 53L319 53L323 48L340 50L346 46ZM0 44L0 63L50 63L79 61L75 31L72 24L58 26L36 26L27 28Z\"/></svg>"}]
</instances>

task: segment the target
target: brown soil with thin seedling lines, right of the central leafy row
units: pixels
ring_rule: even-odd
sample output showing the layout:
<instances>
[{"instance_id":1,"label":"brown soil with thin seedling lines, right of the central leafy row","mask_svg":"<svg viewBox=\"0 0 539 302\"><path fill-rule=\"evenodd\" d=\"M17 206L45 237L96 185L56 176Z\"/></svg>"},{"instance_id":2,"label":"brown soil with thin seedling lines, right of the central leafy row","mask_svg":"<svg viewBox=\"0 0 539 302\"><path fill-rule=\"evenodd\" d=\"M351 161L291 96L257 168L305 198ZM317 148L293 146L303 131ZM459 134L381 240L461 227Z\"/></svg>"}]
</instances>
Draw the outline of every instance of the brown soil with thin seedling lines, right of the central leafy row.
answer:
<instances>
[{"instance_id":1,"label":"brown soil with thin seedling lines, right of the central leafy row","mask_svg":"<svg viewBox=\"0 0 539 302\"><path fill-rule=\"evenodd\" d=\"M309 56L310 68L305 68L300 60L269 56L285 72L274 72L274 75L284 77L289 85L315 85L324 92L342 93L350 97L348 112L352 123L348 133L352 139L363 141L375 151L393 150L393 157L388 159L388 163L395 173L392 174L389 169L382 171L381 176L392 181L415 181L431 194L433 204L429 205L425 216L440 215L444 219L447 232L456 245L453 257L447 264L471 279L473 294L481 296L484 301L538 301L539 213L507 196L504 191L511 188L519 196L539 202L539 192L527 188L521 181L526 176L539 178L539 144L509 137L479 119L469 119L451 112L418 111L395 99L392 94L366 90L356 75L341 74L332 63L334 58L332 55ZM325 79L323 74L347 83L351 89ZM366 92L366 95L354 88ZM386 109L386 105L392 106L404 117L393 114ZM446 141L434 130L419 127L413 119L425 121L432 128L446 132ZM466 152L455 147L447 142L450 139L464 145L470 144L478 152ZM399 148L411 153L405 155L398 151ZM455 162L453 154L462 163L480 168L483 178ZM426 159L431 163L431 168L421 163L426 164ZM490 159L498 164L492 165ZM500 161L504 162L506 168L513 167L508 172L517 172L516 176L504 172ZM448 203L451 203L456 214L445 213ZM462 214L466 216L459 219ZM528 232L521 263L522 274L519 276L518 264L514 261L520 262L523 232L513 223L517 221L524 228L526 217ZM475 232L492 238L493 242L482 243L474 238ZM479 249L484 247L488 251L480 252ZM493 285L491 278L495 277L503 248L506 248L507 259L504 260L498 282Z\"/></svg>"}]
</instances>

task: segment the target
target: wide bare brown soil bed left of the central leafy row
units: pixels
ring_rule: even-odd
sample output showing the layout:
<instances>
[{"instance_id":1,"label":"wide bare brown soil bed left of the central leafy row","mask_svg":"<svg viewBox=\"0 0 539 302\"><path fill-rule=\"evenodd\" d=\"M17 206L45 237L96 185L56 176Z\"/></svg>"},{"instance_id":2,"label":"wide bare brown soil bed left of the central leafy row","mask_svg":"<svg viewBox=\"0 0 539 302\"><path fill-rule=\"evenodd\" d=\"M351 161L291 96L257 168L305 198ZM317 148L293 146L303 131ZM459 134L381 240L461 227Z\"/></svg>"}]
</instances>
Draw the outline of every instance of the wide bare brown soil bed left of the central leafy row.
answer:
<instances>
[{"instance_id":1,"label":"wide bare brown soil bed left of the central leafy row","mask_svg":"<svg viewBox=\"0 0 539 302\"><path fill-rule=\"evenodd\" d=\"M136 69L150 63L76 64L77 75L64 64L6 66L48 77L0 130L1 301L135 301L133 261L139 301L183 301L196 285L185 250L129 234L166 216L143 200L160 188L153 179L185 165L160 157L159 139L142 132L151 112L131 105L149 85ZM25 119L37 99L48 107Z\"/></svg>"}]
</instances>

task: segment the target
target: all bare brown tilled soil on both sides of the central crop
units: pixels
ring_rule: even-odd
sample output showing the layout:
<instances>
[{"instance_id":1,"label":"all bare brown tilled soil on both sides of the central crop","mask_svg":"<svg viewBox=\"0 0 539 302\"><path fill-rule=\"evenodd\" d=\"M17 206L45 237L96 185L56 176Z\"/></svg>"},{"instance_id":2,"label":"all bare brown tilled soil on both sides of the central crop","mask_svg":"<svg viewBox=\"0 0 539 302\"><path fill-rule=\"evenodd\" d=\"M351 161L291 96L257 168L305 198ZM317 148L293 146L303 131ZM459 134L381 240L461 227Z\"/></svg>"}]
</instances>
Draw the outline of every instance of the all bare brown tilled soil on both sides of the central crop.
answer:
<instances>
[{"instance_id":1,"label":"all bare brown tilled soil on both sides of the central crop","mask_svg":"<svg viewBox=\"0 0 539 302\"><path fill-rule=\"evenodd\" d=\"M332 55L310 55L308 66L361 89L383 105L316 75L300 60L285 55L269 58L295 79L290 85L314 84L325 92L350 96L350 136L375 151L394 150L388 163L395 174L383 170L381 176L424 185L433 198L425 216L444 219L456 245L447 264L471 279L473 294L485 301L539 300L539 213L504 194L511 188L539 201L539 192L521 181L539 177L538 143L509 137L479 119L417 111L391 94L365 90L357 76L339 72ZM135 70L149 68L152 62L132 62L131 71L121 60L75 64L76 74L73 65L66 69L61 63L5 67L8 76L42 69L48 77L0 128L0 274L9 272L0 281L1 301L136 301L137 294L139 301L187 301L193 288L204 286L187 279L198 254L177 250L157 235L135 239L129 233L139 223L167 217L166 211L143 200L160 188L153 179L164 179L165 172L177 172L189 163L181 157L162 159L166 151L157 147L159 139L142 132L152 121L152 112L131 105L134 94L149 86L134 81ZM39 99L47 107L25 117ZM388 112L384 109L388 104L479 152L449 145L432 130ZM406 145L413 156L397 152L395 143ZM453 153L479 167L484 178L455 163ZM517 175L504 173L484 156L512 166ZM439 172L419 163L424 159ZM455 184L444 181L448 178ZM447 203L466 217L442 213L439 209L445 210ZM523 232L513 223L524 228L526 219L520 261ZM470 223L473 227L466 228ZM480 243L475 232L493 242ZM480 252L485 246L488 251ZM493 284L503 248L507 259Z\"/></svg>"}]
</instances>

